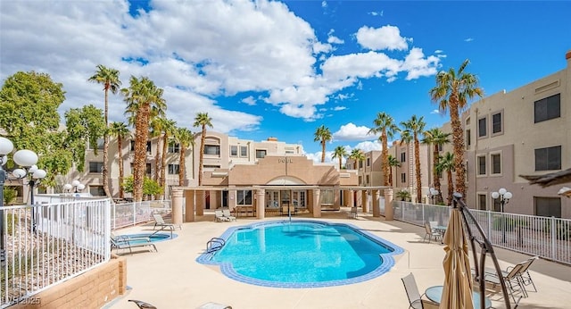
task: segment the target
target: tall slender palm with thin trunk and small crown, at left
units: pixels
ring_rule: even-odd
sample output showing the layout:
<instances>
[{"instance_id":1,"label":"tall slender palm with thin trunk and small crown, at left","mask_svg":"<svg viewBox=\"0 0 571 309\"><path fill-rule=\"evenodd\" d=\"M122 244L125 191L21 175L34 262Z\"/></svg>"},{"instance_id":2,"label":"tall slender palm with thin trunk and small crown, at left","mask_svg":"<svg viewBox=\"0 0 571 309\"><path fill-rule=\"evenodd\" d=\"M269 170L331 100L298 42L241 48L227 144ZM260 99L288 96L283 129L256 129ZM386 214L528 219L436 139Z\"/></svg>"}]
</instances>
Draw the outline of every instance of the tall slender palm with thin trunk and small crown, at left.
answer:
<instances>
[{"instance_id":1,"label":"tall slender palm with thin trunk and small crown, at left","mask_svg":"<svg viewBox=\"0 0 571 309\"><path fill-rule=\"evenodd\" d=\"M109 190L109 90L113 94L117 94L120 89L121 81L119 79L119 71L115 69L110 69L102 64L97 65L97 71L95 74L87 79L91 82L96 82L98 84L103 84L103 92L105 93L105 107L104 107L104 117L105 117L105 134L103 135L103 191L105 196L111 196Z\"/></svg>"}]
</instances>

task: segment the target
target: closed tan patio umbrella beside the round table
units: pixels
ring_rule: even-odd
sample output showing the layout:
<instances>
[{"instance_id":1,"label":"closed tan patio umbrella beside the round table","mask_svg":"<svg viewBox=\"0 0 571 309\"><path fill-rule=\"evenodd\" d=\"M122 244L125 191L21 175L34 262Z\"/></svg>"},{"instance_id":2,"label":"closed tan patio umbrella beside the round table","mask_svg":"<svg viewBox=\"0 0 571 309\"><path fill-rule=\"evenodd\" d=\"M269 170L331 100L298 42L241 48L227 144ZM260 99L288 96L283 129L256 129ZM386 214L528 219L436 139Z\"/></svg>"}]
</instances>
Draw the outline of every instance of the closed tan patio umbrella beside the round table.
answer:
<instances>
[{"instance_id":1,"label":"closed tan patio umbrella beside the round table","mask_svg":"<svg viewBox=\"0 0 571 309\"><path fill-rule=\"evenodd\" d=\"M468 239L462 228L459 208L452 208L448 228L444 234L444 286L440 308L474 308L472 275L468 259Z\"/></svg>"}]
</instances>

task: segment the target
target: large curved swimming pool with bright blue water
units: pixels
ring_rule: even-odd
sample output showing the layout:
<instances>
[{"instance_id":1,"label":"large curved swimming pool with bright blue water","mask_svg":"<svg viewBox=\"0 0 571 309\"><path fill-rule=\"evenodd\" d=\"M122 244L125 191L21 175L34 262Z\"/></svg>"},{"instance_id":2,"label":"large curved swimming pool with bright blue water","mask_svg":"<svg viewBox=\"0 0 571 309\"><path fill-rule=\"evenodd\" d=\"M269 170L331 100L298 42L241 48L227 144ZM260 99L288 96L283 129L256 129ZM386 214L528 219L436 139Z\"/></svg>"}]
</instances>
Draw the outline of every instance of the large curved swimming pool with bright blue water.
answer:
<instances>
[{"instance_id":1,"label":"large curved swimming pool with bright blue water","mask_svg":"<svg viewBox=\"0 0 571 309\"><path fill-rule=\"evenodd\" d=\"M266 287L318 288L371 280L393 267L401 247L350 224L266 221L228 229L226 245L199 263Z\"/></svg>"}]
</instances>

